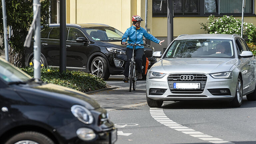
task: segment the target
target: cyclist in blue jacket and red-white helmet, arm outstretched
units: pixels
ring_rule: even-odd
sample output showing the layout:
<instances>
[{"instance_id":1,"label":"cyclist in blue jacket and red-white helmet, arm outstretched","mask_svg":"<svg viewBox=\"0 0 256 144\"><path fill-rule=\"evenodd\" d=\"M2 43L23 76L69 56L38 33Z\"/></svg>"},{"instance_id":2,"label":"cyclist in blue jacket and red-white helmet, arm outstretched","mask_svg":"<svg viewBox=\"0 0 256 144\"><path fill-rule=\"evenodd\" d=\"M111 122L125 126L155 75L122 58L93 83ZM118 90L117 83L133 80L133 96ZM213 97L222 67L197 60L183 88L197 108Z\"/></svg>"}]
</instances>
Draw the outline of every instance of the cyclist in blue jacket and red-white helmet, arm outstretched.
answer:
<instances>
[{"instance_id":1,"label":"cyclist in blue jacket and red-white helmet, arm outstretched","mask_svg":"<svg viewBox=\"0 0 256 144\"><path fill-rule=\"evenodd\" d=\"M161 45L164 40L160 41L157 38L155 38L153 35L149 34L144 28L140 27L140 23L143 21L143 19L140 16L132 16L132 26L128 28L123 37L125 38L122 40L122 44L125 45L126 39L129 37L128 43L130 44L143 44L143 36L155 43L158 43ZM132 48L133 46L127 45L126 49L126 62L124 67L123 75L125 78L123 79L124 82L128 82L129 78L129 65L130 60L132 57ZM142 71L142 56L144 54L144 47L143 46L136 46L135 47L135 62L136 62L136 69L138 71L138 79L142 79L141 73Z\"/></svg>"}]
</instances>

